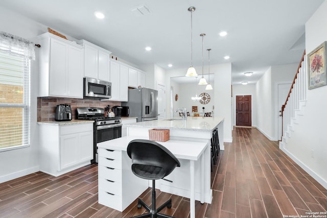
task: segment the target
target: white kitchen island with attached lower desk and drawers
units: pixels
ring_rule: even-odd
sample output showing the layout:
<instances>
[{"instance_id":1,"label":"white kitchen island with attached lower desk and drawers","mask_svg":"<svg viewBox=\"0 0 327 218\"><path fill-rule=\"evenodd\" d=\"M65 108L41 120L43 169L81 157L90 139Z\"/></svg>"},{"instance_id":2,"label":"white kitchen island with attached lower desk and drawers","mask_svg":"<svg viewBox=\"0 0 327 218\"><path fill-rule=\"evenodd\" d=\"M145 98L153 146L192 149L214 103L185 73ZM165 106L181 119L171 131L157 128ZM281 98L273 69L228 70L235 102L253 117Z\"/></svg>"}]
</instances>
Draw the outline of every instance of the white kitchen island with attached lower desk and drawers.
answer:
<instances>
[{"instance_id":1,"label":"white kitchen island with attached lower desk and drawers","mask_svg":"<svg viewBox=\"0 0 327 218\"><path fill-rule=\"evenodd\" d=\"M190 198L190 215L195 217L195 200L212 201L210 145L212 132L218 128L223 149L223 121L219 117L188 117L127 124L126 137L98 143L99 203L122 211L151 186L151 181L132 174L126 148L133 139L149 139L150 129L169 129L170 140L159 143L179 159L181 166L166 180L157 180L156 188Z\"/></svg>"}]
</instances>

